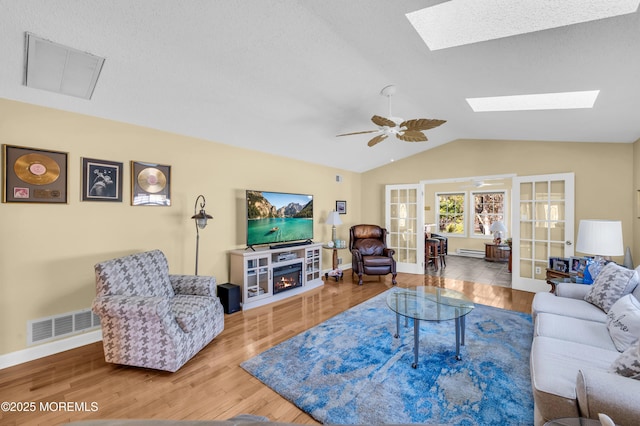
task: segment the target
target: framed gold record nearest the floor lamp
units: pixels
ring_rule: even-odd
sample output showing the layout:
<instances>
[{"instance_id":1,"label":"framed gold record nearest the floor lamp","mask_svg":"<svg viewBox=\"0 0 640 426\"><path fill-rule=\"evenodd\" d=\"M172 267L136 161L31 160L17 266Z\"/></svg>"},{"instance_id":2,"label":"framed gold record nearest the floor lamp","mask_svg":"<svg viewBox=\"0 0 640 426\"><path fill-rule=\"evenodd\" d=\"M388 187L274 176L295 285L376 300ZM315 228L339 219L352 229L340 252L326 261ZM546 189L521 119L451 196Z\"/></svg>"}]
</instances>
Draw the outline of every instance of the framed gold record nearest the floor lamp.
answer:
<instances>
[{"instance_id":1,"label":"framed gold record nearest the floor lamp","mask_svg":"<svg viewBox=\"0 0 640 426\"><path fill-rule=\"evenodd\" d=\"M131 205L170 206L171 166L132 161Z\"/></svg>"}]
</instances>

